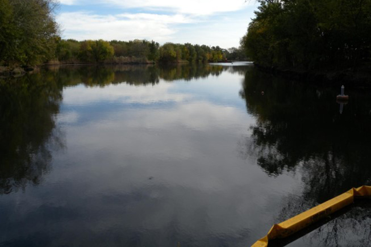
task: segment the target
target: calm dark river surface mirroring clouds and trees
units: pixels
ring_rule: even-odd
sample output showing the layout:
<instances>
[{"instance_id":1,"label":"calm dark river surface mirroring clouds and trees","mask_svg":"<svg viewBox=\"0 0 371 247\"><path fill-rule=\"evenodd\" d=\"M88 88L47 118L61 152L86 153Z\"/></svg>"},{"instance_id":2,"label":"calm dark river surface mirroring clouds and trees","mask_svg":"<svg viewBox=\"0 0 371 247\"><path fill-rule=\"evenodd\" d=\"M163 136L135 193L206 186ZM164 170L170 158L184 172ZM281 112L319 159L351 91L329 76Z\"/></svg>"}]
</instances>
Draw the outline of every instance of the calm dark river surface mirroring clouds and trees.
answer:
<instances>
[{"instance_id":1,"label":"calm dark river surface mirroring clouds and trees","mask_svg":"<svg viewBox=\"0 0 371 247\"><path fill-rule=\"evenodd\" d=\"M251 65L0 79L0 246L249 246L371 183L370 91L342 114L338 93ZM355 204L291 246L367 246L370 224Z\"/></svg>"}]
</instances>

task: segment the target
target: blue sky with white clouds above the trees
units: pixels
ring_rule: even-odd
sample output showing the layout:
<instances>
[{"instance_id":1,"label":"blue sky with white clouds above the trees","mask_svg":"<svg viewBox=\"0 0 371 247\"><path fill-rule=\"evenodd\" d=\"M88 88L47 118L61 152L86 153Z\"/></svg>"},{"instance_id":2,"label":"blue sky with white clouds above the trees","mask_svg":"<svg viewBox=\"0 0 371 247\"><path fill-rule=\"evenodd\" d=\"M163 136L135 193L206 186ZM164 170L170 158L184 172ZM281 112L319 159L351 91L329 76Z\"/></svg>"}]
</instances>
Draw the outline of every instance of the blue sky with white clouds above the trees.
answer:
<instances>
[{"instance_id":1,"label":"blue sky with white clouds above the trees","mask_svg":"<svg viewBox=\"0 0 371 247\"><path fill-rule=\"evenodd\" d=\"M65 39L155 40L238 47L254 0L60 0Z\"/></svg>"}]
</instances>

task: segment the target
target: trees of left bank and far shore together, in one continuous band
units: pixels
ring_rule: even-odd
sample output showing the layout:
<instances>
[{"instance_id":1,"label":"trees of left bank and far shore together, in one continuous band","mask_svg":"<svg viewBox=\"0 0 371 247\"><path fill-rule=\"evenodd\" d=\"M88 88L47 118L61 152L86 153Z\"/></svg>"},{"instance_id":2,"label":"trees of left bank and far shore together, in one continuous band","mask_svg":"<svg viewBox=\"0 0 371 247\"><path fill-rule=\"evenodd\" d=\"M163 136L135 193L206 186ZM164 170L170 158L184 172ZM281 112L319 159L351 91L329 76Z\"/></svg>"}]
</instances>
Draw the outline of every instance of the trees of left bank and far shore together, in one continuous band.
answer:
<instances>
[{"instance_id":1,"label":"trees of left bank and far shore together, in one continuous band","mask_svg":"<svg viewBox=\"0 0 371 247\"><path fill-rule=\"evenodd\" d=\"M55 0L0 0L0 65L43 63L217 62L242 59L242 48L148 40L61 39Z\"/></svg>"}]
</instances>

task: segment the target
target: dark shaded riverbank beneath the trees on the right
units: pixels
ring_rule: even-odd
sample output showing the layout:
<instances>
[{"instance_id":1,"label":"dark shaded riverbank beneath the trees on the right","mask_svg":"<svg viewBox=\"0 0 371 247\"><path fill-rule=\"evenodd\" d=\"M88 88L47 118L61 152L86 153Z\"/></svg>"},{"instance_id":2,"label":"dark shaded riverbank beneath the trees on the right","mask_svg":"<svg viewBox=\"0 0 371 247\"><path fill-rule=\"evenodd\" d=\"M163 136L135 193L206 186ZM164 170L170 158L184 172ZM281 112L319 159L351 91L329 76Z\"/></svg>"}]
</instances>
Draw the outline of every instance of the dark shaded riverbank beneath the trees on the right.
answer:
<instances>
[{"instance_id":1,"label":"dark shaded riverbank beneath the trees on the right","mask_svg":"<svg viewBox=\"0 0 371 247\"><path fill-rule=\"evenodd\" d=\"M267 67L254 63L257 69L290 80L310 81L311 83L329 83L340 85L348 83L354 86L371 87L371 68L362 66L357 69L310 71L292 68Z\"/></svg>"}]
</instances>

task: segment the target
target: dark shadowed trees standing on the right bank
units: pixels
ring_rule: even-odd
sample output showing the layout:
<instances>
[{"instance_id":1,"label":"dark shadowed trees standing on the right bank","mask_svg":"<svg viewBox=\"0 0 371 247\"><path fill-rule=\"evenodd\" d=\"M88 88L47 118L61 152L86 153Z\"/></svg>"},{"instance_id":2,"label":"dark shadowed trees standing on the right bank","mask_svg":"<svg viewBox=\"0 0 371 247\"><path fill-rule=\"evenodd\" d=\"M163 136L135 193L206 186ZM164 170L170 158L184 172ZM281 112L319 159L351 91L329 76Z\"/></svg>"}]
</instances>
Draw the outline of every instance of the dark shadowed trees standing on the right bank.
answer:
<instances>
[{"instance_id":1,"label":"dark shadowed trees standing on the right bank","mask_svg":"<svg viewBox=\"0 0 371 247\"><path fill-rule=\"evenodd\" d=\"M370 66L371 0L258 0L241 39L262 66L344 69Z\"/></svg>"}]
</instances>

